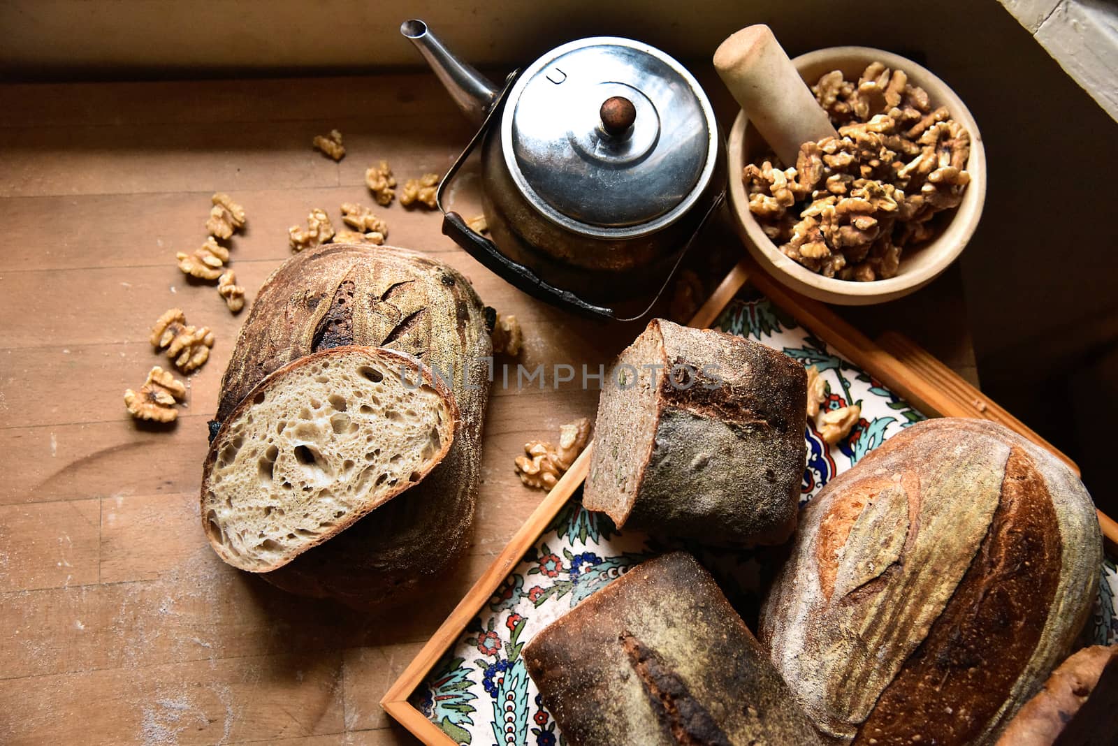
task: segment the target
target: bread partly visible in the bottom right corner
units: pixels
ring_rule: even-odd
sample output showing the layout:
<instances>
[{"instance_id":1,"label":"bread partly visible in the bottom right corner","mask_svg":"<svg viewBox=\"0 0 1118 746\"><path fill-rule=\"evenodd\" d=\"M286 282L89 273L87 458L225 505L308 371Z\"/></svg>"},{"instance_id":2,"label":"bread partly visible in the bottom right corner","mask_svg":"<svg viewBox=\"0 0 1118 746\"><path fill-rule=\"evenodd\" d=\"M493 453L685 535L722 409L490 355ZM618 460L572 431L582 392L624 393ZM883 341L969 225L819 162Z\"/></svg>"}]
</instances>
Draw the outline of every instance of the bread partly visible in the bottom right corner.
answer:
<instances>
[{"instance_id":1,"label":"bread partly visible in the bottom right corner","mask_svg":"<svg viewBox=\"0 0 1118 746\"><path fill-rule=\"evenodd\" d=\"M1025 702L997 746L1118 744L1118 645L1084 648Z\"/></svg>"}]
</instances>

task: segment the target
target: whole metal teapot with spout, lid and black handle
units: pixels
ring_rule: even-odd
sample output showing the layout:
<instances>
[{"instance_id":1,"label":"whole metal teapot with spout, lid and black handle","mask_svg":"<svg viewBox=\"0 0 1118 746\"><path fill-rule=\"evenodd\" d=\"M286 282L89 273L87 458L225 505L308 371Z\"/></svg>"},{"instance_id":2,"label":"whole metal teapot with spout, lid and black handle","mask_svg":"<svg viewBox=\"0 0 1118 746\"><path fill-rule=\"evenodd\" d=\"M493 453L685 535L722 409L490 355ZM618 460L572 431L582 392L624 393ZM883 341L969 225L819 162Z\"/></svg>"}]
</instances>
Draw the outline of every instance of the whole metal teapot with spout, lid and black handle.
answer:
<instances>
[{"instance_id":1,"label":"whole metal teapot with spout, lid and black handle","mask_svg":"<svg viewBox=\"0 0 1118 746\"><path fill-rule=\"evenodd\" d=\"M648 45L593 37L496 87L423 21L400 32L479 125L438 187L443 232L533 297L598 318L646 314L724 193L722 138L694 77ZM493 240L443 204L479 143Z\"/></svg>"}]
</instances>

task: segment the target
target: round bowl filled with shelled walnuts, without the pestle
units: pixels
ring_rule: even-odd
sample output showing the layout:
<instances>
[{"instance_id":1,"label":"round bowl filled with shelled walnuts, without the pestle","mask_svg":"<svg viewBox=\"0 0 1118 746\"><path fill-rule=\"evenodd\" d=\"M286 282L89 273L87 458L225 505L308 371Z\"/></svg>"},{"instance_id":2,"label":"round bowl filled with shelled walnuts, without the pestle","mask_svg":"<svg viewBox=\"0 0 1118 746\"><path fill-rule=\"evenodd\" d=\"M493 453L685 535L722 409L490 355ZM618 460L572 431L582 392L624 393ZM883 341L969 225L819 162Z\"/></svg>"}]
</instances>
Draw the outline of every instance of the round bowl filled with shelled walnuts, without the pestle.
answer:
<instances>
[{"instance_id":1,"label":"round bowl filled with shelled walnuts, without the pestle","mask_svg":"<svg viewBox=\"0 0 1118 746\"><path fill-rule=\"evenodd\" d=\"M986 156L974 117L946 83L881 49L830 47L792 61L837 137L780 163L738 113L729 192L747 249L826 303L883 303L923 287L982 216Z\"/></svg>"}]
</instances>

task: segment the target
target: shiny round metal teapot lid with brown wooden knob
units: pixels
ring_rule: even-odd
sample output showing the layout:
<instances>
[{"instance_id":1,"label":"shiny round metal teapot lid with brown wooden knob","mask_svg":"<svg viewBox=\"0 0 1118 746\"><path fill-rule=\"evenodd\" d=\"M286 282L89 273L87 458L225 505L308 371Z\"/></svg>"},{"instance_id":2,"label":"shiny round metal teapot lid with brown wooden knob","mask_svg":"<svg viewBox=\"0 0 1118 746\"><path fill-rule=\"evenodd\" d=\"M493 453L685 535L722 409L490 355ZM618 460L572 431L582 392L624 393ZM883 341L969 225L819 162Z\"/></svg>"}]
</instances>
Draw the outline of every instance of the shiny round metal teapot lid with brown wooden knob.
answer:
<instances>
[{"instance_id":1,"label":"shiny round metal teapot lid with brown wooden knob","mask_svg":"<svg viewBox=\"0 0 1118 746\"><path fill-rule=\"evenodd\" d=\"M617 37L552 49L520 76L501 121L528 201L563 228L631 238L678 220L710 182L718 128L676 60Z\"/></svg>"}]
</instances>

